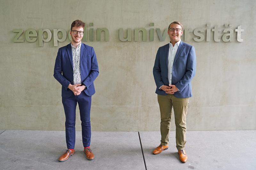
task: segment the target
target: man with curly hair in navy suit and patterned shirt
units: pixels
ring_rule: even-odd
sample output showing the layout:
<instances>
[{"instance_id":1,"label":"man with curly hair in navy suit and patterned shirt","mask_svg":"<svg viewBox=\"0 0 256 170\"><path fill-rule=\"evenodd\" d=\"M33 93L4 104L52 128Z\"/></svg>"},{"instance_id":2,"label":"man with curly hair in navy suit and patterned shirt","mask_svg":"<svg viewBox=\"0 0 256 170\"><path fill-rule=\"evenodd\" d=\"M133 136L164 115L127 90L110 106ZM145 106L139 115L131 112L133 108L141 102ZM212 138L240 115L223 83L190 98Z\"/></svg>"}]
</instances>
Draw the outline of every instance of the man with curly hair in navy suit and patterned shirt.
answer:
<instances>
[{"instance_id":1,"label":"man with curly hair in navy suit and patterned shirt","mask_svg":"<svg viewBox=\"0 0 256 170\"><path fill-rule=\"evenodd\" d=\"M95 93L93 81L99 74L98 62L93 47L81 42L85 23L76 20L71 24L71 43L59 48L55 66L54 78L62 85L62 104L66 122L67 151L59 158L66 161L75 154L76 139L76 105L78 103L82 125L84 153L89 160L94 159L90 148L91 142L91 100Z\"/></svg>"}]
</instances>

